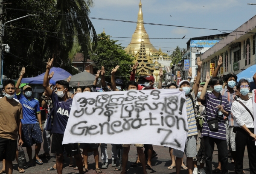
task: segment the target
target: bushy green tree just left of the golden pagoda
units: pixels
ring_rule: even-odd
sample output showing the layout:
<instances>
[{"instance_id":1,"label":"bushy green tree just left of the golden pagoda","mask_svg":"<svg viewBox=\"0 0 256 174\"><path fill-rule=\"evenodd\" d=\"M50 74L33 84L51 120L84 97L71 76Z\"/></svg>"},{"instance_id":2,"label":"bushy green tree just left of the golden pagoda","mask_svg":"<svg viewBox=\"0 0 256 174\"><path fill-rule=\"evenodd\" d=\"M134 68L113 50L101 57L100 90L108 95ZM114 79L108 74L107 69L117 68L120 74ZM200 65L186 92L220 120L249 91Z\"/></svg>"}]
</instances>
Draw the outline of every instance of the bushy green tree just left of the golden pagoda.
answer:
<instances>
[{"instance_id":1,"label":"bushy green tree just left of the golden pagoda","mask_svg":"<svg viewBox=\"0 0 256 174\"><path fill-rule=\"evenodd\" d=\"M98 45L96 50L93 51L98 56L91 57L91 60L97 62L94 72L96 73L96 70L101 70L101 67L104 66L106 81L110 82L111 70L116 65L119 65L120 67L116 72L116 76L121 77L116 78L123 79L125 82L129 81L134 59L123 50L124 47L121 44L116 44L118 40L109 39L110 36L105 33L101 33L98 36Z\"/></svg>"}]
</instances>

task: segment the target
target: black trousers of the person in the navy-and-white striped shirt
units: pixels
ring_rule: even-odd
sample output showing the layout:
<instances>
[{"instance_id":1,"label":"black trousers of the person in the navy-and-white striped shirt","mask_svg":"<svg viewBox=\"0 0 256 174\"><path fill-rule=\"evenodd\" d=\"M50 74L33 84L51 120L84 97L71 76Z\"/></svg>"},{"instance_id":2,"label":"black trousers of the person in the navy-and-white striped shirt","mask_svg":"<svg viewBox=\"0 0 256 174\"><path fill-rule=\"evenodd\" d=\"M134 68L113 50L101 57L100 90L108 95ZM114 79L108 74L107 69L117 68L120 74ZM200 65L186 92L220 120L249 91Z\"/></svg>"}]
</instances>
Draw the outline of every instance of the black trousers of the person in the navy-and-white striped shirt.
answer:
<instances>
[{"instance_id":1,"label":"black trousers of the person in the navy-and-white striped shirt","mask_svg":"<svg viewBox=\"0 0 256 174\"><path fill-rule=\"evenodd\" d=\"M227 140L204 136L206 173L212 174L214 143L216 143L218 148L218 156L221 162L221 174L227 174Z\"/></svg>"}]
</instances>

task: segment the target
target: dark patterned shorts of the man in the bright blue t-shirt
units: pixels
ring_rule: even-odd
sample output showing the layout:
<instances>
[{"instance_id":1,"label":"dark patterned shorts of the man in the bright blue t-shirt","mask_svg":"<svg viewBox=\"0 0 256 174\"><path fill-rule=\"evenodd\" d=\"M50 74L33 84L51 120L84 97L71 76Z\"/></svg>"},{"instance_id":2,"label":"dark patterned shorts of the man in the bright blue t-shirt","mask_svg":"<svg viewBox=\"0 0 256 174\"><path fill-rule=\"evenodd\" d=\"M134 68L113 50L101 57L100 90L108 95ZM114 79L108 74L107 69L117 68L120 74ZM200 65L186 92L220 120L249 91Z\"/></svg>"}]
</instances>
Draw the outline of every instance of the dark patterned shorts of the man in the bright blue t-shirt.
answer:
<instances>
[{"instance_id":1,"label":"dark patterned shorts of the man in the bright blue t-shirt","mask_svg":"<svg viewBox=\"0 0 256 174\"><path fill-rule=\"evenodd\" d=\"M22 147L31 147L33 144L43 143L39 124L22 124L21 138L24 142Z\"/></svg>"}]
</instances>

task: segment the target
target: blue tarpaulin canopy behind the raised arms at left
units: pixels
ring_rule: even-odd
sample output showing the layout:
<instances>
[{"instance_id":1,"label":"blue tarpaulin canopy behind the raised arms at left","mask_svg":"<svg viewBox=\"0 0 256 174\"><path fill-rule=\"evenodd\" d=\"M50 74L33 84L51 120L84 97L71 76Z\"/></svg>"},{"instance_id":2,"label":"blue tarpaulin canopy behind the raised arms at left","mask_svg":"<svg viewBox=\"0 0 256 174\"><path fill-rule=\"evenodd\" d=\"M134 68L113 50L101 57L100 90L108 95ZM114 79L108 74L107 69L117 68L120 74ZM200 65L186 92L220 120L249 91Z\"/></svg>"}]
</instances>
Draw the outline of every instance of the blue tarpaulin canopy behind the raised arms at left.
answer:
<instances>
[{"instance_id":1,"label":"blue tarpaulin canopy behind the raised arms at left","mask_svg":"<svg viewBox=\"0 0 256 174\"><path fill-rule=\"evenodd\" d=\"M56 81L58 81L58 80L63 80L63 79L68 78L69 76L72 76L69 72L61 69L60 67L52 67L50 69L50 73L52 73L52 71L54 71L54 75L53 75L52 79L50 80L51 84L55 84ZM44 74L45 73L42 73L42 74L40 74L39 76L36 76L36 77L23 78L21 80L21 83L43 84Z\"/></svg>"}]
</instances>

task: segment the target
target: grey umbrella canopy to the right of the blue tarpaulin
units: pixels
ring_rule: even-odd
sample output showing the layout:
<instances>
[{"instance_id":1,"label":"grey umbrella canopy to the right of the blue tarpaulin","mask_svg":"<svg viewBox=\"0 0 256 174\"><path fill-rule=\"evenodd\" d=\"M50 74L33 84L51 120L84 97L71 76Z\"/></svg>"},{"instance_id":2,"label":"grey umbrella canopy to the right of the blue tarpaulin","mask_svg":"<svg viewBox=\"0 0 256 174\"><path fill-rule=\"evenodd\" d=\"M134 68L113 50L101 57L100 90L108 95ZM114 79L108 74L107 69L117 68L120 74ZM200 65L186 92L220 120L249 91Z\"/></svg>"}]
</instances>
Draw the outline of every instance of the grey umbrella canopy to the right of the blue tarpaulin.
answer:
<instances>
[{"instance_id":1,"label":"grey umbrella canopy to the right of the blue tarpaulin","mask_svg":"<svg viewBox=\"0 0 256 174\"><path fill-rule=\"evenodd\" d=\"M67 80L67 79L64 79ZM87 71L83 71L72 76L70 80L70 87L79 87L79 86L92 86L95 80L95 76ZM98 79L97 87L101 87L101 79Z\"/></svg>"}]
</instances>

